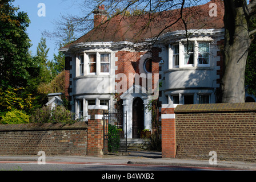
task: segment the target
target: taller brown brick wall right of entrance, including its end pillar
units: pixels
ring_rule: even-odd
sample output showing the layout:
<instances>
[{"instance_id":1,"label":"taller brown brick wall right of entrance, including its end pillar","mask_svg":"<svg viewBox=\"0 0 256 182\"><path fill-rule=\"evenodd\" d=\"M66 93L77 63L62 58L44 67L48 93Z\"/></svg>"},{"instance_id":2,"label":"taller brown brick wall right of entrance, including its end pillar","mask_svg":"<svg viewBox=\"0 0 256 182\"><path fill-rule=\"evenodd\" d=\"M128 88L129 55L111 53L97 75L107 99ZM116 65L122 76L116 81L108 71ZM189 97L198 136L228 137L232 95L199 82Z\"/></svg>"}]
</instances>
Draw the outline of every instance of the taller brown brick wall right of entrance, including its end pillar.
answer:
<instances>
[{"instance_id":1,"label":"taller brown brick wall right of entrance, including its end pillar","mask_svg":"<svg viewBox=\"0 0 256 182\"><path fill-rule=\"evenodd\" d=\"M218 160L256 161L255 102L178 105L173 121L173 110L163 111L162 143L170 144L162 148L163 158L209 160L209 152L215 151ZM172 138L165 138L168 133ZM173 138L175 143L171 142Z\"/></svg>"}]
</instances>

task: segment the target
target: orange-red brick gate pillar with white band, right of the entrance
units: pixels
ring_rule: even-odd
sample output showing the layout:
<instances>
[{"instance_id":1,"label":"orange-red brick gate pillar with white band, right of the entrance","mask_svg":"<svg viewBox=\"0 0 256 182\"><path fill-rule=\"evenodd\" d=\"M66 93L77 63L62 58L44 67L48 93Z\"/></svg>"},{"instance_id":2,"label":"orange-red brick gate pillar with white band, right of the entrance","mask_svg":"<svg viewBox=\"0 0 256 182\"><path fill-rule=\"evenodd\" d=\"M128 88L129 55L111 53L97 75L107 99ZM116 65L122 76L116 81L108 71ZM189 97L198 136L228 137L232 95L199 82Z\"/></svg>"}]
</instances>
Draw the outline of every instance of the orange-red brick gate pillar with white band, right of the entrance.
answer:
<instances>
[{"instance_id":1,"label":"orange-red brick gate pillar with white band, right of the entrance","mask_svg":"<svg viewBox=\"0 0 256 182\"><path fill-rule=\"evenodd\" d=\"M162 105L162 158L176 156L175 105Z\"/></svg>"}]
</instances>

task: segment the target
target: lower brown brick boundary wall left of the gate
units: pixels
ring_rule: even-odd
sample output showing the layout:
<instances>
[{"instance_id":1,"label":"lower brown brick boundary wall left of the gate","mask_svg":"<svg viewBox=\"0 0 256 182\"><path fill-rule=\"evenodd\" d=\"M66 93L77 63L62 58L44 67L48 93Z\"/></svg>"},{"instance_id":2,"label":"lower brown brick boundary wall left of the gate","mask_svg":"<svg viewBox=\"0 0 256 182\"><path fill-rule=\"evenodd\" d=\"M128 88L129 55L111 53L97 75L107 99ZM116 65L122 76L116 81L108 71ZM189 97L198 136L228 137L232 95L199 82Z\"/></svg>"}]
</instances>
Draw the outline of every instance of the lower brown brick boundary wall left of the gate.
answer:
<instances>
[{"instance_id":1,"label":"lower brown brick boundary wall left of the gate","mask_svg":"<svg viewBox=\"0 0 256 182\"><path fill-rule=\"evenodd\" d=\"M0 155L86 155L87 124L0 125Z\"/></svg>"}]
</instances>

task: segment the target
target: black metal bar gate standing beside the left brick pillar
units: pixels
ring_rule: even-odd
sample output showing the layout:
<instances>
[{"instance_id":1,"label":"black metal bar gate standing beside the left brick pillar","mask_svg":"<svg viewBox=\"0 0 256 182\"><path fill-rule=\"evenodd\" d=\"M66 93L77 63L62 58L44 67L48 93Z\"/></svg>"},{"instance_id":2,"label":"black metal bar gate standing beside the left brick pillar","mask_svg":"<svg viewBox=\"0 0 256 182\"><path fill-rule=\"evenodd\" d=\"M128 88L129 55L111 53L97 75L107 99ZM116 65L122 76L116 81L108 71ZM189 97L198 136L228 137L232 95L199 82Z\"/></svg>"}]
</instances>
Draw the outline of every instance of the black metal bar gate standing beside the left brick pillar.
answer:
<instances>
[{"instance_id":1,"label":"black metal bar gate standing beside the left brick pillar","mask_svg":"<svg viewBox=\"0 0 256 182\"><path fill-rule=\"evenodd\" d=\"M103 113L104 154L127 153L127 111L126 113Z\"/></svg>"}]
</instances>

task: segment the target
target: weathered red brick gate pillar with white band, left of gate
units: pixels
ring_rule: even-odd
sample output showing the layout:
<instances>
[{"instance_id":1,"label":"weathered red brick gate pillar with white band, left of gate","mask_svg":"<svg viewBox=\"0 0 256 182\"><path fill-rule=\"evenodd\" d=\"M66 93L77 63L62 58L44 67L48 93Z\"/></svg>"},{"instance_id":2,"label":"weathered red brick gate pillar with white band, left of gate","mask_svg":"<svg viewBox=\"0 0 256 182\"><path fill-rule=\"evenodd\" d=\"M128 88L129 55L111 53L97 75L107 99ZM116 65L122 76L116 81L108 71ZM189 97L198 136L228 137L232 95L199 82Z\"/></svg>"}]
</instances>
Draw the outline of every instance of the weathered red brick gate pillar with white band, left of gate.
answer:
<instances>
[{"instance_id":1,"label":"weathered red brick gate pillar with white band, left of gate","mask_svg":"<svg viewBox=\"0 0 256 182\"><path fill-rule=\"evenodd\" d=\"M88 110L88 156L103 156L103 111L103 109Z\"/></svg>"}]
</instances>

